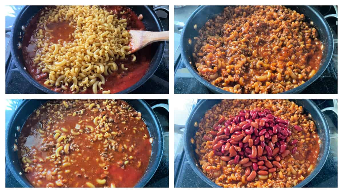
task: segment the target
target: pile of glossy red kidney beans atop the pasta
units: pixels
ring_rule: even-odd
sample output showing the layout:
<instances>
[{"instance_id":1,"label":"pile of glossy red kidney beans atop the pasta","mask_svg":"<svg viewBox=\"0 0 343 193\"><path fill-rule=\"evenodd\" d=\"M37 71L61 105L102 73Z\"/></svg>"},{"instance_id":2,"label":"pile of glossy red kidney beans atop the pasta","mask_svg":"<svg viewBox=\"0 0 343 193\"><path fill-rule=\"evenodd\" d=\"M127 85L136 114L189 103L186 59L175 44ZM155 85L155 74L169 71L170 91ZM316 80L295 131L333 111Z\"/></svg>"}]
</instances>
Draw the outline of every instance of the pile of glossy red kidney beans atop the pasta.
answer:
<instances>
[{"instance_id":1,"label":"pile of glossy red kidney beans atop the pasta","mask_svg":"<svg viewBox=\"0 0 343 193\"><path fill-rule=\"evenodd\" d=\"M297 139L290 141L291 130L288 121L271 114L269 109L256 108L244 110L236 116L222 117L205 140L212 140L214 154L228 164L241 164L246 167L247 181L258 175L259 179L268 179L268 174L281 168L281 157L295 154ZM294 125L294 129L302 128ZM292 151L286 149L293 146Z\"/></svg>"}]
</instances>

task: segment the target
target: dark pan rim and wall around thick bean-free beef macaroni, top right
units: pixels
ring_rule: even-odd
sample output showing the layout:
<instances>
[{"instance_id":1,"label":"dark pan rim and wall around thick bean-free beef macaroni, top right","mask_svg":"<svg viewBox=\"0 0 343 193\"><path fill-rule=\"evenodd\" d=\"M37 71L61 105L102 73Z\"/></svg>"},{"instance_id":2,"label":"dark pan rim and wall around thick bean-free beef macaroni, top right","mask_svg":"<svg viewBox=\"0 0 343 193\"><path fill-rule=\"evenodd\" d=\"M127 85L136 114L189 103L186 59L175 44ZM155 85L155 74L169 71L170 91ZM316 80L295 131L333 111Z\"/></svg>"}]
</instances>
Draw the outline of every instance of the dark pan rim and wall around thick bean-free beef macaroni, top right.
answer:
<instances>
[{"instance_id":1,"label":"dark pan rim and wall around thick bean-free beef macaroni, top right","mask_svg":"<svg viewBox=\"0 0 343 193\"><path fill-rule=\"evenodd\" d=\"M218 88L214 85L212 85L210 82L206 81L205 79L203 79L196 71L196 69L194 69L194 64L192 64L192 59L190 57L192 57L192 53L188 53L188 37L187 34L189 33L187 29L187 27L190 27L190 23L192 23L192 20L196 20L196 18L198 17L203 17L199 12L203 12L204 10L206 10L206 8L211 7L213 5L201 5L198 9L196 9L191 16L189 16L185 26L183 27L182 33L181 33L181 37L180 37L180 47L181 47L181 58L184 61L185 66L187 67L187 69L189 70L189 72L193 75L193 77L195 77L199 82L201 82L202 84L204 84L204 86L206 86L208 89L210 89L212 92L214 93L225 93L225 94L233 94L232 92L229 91L225 91L221 88ZM223 7L222 9L224 9L226 6L214 6L214 7ZM287 7L287 6L286 6ZM297 6L299 7L299 6ZM306 81L304 84L301 84L300 86L282 92L282 94L294 94L294 93L300 93L301 91L303 91L306 87L308 87L312 82L316 81L321 75L322 73L326 70L326 68L328 67L330 61L331 61L331 57L333 54L333 36L332 36L332 32L330 29L330 26L328 24L328 22L323 18L323 16L312 6L306 5L303 6L306 7L312 14L316 15L318 22L321 22L324 26L324 32L327 34L327 45L326 48L327 49L327 57L323 59L321 61L321 67L320 69L317 71L317 73L310 78L308 81ZM220 13L220 12L218 12ZM213 13L212 15L207 15L206 20L212 18L214 15L218 14L218 13ZM199 15L201 16L199 16ZM306 19L310 19L310 20L314 20L314 18L308 18L307 15L305 15ZM202 26L198 26L198 29L200 29ZM193 27L191 28L193 29ZM317 29L317 27L316 27ZM194 29L193 29L194 30ZM319 30L318 30L319 32ZM198 33L198 32L197 32ZM319 34L319 35L323 35L323 34ZM186 38L186 39L185 39ZM324 54L324 53L323 53Z\"/></svg>"}]
</instances>

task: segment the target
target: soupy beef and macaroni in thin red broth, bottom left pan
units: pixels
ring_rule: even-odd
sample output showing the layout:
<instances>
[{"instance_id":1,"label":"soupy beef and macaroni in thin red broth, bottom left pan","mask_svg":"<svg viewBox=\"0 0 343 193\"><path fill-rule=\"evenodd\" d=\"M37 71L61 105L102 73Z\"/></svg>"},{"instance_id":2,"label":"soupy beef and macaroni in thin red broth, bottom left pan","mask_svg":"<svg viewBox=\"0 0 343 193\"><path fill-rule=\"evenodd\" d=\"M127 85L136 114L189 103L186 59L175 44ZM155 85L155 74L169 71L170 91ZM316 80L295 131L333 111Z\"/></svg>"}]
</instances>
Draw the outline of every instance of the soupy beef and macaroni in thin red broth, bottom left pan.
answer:
<instances>
[{"instance_id":1,"label":"soupy beef and macaroni in thin red broth, bottom left pan","mask_svg":"<svg viewBox=\"0 0 343 193\"><path fill-rule=\"evenodd\" d=\"M142 114L125 101L49 101L24 124L19 158L35 187L133 187L152 142Z\"/></svg>"}]
</instances>

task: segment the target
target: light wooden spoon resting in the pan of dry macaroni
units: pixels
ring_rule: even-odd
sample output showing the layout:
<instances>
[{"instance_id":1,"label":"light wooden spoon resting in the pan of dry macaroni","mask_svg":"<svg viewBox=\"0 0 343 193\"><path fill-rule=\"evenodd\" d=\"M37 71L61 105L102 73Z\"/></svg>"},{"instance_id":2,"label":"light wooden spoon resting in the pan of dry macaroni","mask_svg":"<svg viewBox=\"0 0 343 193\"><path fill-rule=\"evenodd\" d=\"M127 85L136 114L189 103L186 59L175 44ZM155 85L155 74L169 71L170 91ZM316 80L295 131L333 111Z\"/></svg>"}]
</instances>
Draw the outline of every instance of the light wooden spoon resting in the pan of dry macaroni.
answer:
<instances>
[{"instance_id":1,"label":"light wooden spoon resting in the pan of dry macaroni","mask_svg":"<svg viewBox=\"0 0 343 193\"><path fill-rule=\"evenodd\" d=\"M169 40L169 31L148 32L142 30L130 30L129 33L131 35L129 43L129 46L131 46L132 49L131 53L137 52L148 44Z\"/></svg>"}]
</instances>

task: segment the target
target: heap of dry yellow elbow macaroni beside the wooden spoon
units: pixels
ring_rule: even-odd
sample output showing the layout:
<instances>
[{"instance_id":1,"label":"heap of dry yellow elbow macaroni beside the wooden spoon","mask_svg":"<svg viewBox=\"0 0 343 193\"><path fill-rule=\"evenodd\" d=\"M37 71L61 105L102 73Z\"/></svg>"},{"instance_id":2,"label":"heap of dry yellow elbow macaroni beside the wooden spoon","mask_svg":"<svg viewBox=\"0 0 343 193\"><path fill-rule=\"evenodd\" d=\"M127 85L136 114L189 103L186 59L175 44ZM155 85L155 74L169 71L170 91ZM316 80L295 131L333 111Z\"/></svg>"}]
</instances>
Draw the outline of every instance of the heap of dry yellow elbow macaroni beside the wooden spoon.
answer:
<instances>
[{"instance_id":1,"label":"heap of dry yellow elbow macaroni beside the wooden spoon","mask_svg":"<svg viewBox=\"0 0 343 193\"><path fill-rule=\"evenodd\" d=\"M46 87L70 89L73 93L85 92L92 87L93 93L104 91L105 77L118 70L115 60L127 59L130 55L130 33L126 30L127 19L120 19L113 11L99 6L57 6L46 10L39 18L39 29L35 35L37 48L34 64L49 76ZM74 27L72 42L49 41L49 23L68 21ZM132 55L132 61L136 56ZM128 70L121 64L122 70ZM69 87L69 88L68 88Z\"/></svg>"}]
</instances>

